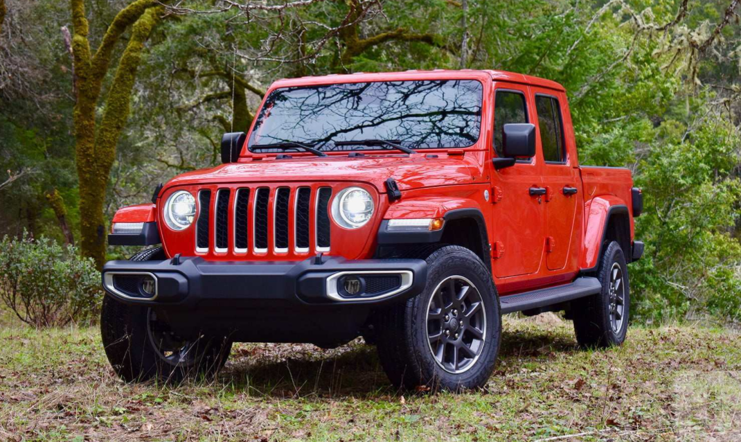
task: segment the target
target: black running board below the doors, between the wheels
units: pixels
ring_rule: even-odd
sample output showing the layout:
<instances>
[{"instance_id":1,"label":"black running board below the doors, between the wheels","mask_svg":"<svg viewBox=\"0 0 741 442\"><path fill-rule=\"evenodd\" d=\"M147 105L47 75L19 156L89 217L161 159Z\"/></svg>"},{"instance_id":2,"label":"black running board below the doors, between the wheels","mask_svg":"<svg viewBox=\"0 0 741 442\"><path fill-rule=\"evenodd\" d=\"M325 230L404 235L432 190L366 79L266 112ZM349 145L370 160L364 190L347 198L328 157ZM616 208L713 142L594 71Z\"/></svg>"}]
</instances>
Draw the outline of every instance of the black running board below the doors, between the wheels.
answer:
<instances>
[{"instance_id":1,"label":"black running board below the doors, between the wheels","mask_svg":"<svg viewBox=\"0 0 741 442\"><path fill-rule=\"evenodd\" d=\"M499 298L499 302L502 306L502 314L507 314L514 313L515 311L552 306L591 294L597 294L599 291L602 291L602 284L599 283L597 278L579 277L573 283L565 284L564 286L540 288L539 290L526 291L525 293L502 296Z\"/></svg>"}]
</instances>

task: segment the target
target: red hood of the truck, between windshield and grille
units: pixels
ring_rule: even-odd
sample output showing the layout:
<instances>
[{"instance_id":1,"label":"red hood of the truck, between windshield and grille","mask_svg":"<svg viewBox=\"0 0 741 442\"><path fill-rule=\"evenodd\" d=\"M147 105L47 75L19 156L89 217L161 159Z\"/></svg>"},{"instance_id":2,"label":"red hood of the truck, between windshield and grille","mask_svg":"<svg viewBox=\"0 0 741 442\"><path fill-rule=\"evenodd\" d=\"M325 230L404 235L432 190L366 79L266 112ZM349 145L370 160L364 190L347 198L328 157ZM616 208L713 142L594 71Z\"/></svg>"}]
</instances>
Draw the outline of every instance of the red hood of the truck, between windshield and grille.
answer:
<instances>
[{"instance_id":1,"label":"red hood of the truck, between windshield and grille","mask_svg":"<svg viewBox=\"0 0 741 442\"><path fill-rule=\"evenodd\" d=\"M438 185L471 183L482 176L482 165L475 153L448 156L299 156L294 159L250 160L179 175L165 187L213 183L252 182L368 182L383 191L388 178L408 190Z\"/></svg>"}]
</instances>

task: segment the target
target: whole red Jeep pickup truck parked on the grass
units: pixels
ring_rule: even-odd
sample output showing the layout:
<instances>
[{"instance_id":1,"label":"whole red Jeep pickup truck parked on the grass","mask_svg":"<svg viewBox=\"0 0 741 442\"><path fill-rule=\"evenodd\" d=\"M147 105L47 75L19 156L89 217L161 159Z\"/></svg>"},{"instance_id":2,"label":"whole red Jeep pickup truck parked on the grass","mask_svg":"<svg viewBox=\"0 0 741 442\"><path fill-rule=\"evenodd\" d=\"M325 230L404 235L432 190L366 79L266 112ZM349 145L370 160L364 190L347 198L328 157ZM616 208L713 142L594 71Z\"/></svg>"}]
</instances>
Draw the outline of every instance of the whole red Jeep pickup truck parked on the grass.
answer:
<instances>
[{"instance_id":1,"label":"whole red Jeep pickup truck parked on the grass","mask_svg":"<svg viewBox=\"0 0 741 442\"><path fill-rule=\"evenodd\" d=\"M396 386L482 386L502 314L565 311L625 340L642 195L579 166L566 93L493 70L275 82L222 165L122 208L102 340L126 380L223 366L233 342L362 335Z\"/></svg>"}]
</instances>

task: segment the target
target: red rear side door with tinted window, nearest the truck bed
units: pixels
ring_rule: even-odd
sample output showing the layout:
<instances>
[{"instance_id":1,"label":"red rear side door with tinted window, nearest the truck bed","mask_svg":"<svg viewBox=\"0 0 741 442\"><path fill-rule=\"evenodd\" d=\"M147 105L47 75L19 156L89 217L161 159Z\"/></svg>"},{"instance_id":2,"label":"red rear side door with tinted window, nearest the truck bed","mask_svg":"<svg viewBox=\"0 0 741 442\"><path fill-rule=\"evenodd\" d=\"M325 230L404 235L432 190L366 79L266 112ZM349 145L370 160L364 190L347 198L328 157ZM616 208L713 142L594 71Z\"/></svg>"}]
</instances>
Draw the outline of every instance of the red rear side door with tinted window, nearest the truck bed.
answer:
<instances>
[{"instance_id":1,"label":"red rear side door with tinted window, nearest the truck bed","mask_svg":"<svg viewBox=\"0 0 741 442\"><path fill-rule=\"evenodd\" d=\"M568 271L576 263L576 207L582 191L576 148L573 136L567 137L564 132L564 113L568 109L565 108L565 96L548 89L533 90L538 128L536 138L544 159L546 263L549 271Z\"/></svg>"}]
</instances>

